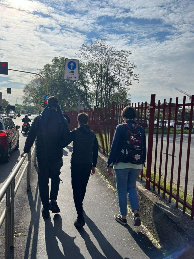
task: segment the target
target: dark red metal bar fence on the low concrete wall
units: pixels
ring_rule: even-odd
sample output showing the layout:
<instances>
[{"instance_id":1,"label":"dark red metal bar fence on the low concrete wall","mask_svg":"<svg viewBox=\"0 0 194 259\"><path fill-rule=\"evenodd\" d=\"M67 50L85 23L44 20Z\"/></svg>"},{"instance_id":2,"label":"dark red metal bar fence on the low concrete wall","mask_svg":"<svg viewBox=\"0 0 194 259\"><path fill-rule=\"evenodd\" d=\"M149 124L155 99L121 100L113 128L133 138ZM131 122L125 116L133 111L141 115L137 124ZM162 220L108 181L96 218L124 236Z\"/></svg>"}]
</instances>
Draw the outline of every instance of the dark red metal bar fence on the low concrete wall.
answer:
<instances>
[{"instance_id":1,"label":"dark red metal bar fence on the low concrete wall","mask_svg":"<svg viewBox=\"0 0 194 259\"><path fill-rule=\"evenodd\" d=\"M132 103L136 110L136 122L146 130L147 161L141 172L146 189L152 188L162 197L172 199L176 208L194 217L194 135L192 135L194 96L190 103L155 103L151 95L150 104ZM89 116L89 125L96 133L99 150L108 155L115 128L122 123L121 112L126 105L96 109L84 109ZM77 127L77 111L67 112L70 129ZM192 148L192 150L190 150ZM192 159L190 159L190 151ZM152 186L152 187L151 187Z\"/></svg>"}]
</instances>

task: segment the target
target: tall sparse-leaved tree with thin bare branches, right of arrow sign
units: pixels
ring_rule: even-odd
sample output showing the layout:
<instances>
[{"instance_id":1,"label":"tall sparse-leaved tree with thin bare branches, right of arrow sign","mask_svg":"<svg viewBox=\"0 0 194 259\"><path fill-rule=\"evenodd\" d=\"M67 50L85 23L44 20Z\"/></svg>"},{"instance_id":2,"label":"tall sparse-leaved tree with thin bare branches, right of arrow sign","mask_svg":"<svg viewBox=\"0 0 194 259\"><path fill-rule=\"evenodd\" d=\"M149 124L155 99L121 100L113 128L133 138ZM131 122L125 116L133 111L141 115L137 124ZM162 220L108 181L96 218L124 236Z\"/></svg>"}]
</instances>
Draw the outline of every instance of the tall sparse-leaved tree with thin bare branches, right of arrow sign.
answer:
<instances>
[{"instance_id":1,"label":"tall sparse-leaved tree with thin bare branches, right of arrow sign","mask_svg":"<svg viewBox=\"0 0 194 259\"><path fill-rule=\"evenodd\" d=\"M87 79L94 90L95 105L109 106L112 101L119 103L129 100L129 86L138 81L138 74L133 73L137 66L128 60L131 51L116 50L106 44L106 39L96 39L95 42L83 44L78 54L84 60L82 66Z\"/></svg>"}]
</instances>

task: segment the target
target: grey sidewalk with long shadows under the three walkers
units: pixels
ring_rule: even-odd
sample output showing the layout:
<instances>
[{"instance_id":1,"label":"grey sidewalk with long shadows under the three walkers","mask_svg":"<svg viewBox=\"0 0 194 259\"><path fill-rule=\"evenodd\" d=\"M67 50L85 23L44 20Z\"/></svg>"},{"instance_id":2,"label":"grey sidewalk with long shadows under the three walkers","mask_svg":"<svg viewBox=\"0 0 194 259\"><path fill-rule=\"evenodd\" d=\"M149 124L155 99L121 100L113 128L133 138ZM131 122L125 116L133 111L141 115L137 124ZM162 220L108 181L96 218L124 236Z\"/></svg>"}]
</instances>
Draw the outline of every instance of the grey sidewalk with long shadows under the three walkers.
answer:
<instances>
[{"instance_id":1,"label":"grey sidewalk with long shadows under the three walkers","mask_svg":"<svg viewBox=\"0 0 194 259\"><path fill-rule=\"evenodd\" d=\"M31 190L26 192L26 177L15 198L14 238L12 258L17 259L161 259L163 255L145 235L142 226L121 226L114 219L119 212L117 195L96 173L89 179L84 199L86 225L80 230L73 225L76 210L73 202L70 174L71 147L64 149L58 205L61 213L50 213L43 220L38 189L37 169L31 175ZM33 163L33 161L32 161ZM0 235L5 235L4 225ZM0 258L5 258L5 239L0 239Z\"/></svg>"}]
</instances>

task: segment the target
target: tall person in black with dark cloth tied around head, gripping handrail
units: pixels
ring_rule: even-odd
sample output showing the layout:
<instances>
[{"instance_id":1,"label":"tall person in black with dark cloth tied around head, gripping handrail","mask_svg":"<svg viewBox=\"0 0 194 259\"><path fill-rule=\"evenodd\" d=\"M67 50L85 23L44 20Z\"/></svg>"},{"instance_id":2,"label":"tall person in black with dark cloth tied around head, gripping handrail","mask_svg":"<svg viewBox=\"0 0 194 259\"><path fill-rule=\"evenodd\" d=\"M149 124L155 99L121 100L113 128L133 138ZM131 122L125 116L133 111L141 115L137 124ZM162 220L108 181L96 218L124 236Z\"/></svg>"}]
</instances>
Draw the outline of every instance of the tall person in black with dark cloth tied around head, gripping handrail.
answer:
<instances>
[{"instance_id":1,"label":"tall person in black with dark cloth tied around head, gripping handrail","mask_svg":"<svg viewBox=\"0 0 194 259\"><path fill-rule=\"evenodd\" d=\"M60 212L56 200L60 183L60 169L63 166L61 142L70 132L58 103L57 98L53 96L48 98L47 107L31 125L24 147L24 153L29 153L37 138L38 184L43 205L42 216L45 219L49 218L49 210L53 213ZM21 154L21 157L24 153ZM51 178L50 198L49 178Z\"/></svg>"}]
</instances>

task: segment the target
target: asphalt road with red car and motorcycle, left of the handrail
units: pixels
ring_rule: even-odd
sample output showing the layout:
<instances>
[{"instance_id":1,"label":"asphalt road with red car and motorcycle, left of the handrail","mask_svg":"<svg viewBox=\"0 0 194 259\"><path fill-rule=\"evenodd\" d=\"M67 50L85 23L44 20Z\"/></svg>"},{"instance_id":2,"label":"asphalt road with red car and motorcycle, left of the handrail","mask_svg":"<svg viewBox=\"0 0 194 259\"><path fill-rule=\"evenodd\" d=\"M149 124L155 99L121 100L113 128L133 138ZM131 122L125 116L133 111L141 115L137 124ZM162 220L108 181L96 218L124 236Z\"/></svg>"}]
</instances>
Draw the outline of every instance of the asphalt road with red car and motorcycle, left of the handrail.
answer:
<instances>
[{"instance_id":1,"label":"asphalt road with red car and motorcycle, left of the handrail","mask_svg":"<svg viewBox=\"0 0 194 259\"><path fill-rule=\"evenodd\" d=\"M23 125L23 122L21 121L24 118L24 115L22 115L20 118L12 119L15 125L21 126ZM34 120L34 117L30 117L32 121ZM32 123L30 123L32 124ZM25 141L27 135L21 134L21 128L19 129L20 133L20 145L18 150L13 150L10 155L10 161L9 163L3 163L0 162L0 188L7 179L7 177L11 174L13 169L16 167L17 163L20 160L20 154L23 152Z\"/></svg>"}]
</instances>

